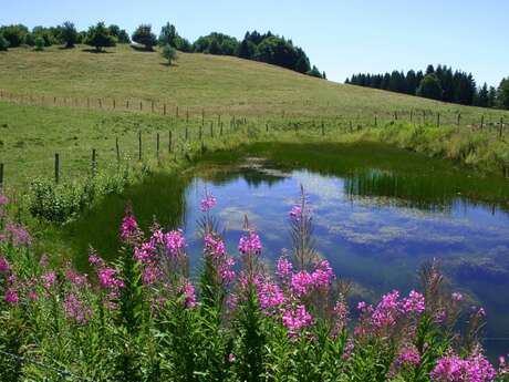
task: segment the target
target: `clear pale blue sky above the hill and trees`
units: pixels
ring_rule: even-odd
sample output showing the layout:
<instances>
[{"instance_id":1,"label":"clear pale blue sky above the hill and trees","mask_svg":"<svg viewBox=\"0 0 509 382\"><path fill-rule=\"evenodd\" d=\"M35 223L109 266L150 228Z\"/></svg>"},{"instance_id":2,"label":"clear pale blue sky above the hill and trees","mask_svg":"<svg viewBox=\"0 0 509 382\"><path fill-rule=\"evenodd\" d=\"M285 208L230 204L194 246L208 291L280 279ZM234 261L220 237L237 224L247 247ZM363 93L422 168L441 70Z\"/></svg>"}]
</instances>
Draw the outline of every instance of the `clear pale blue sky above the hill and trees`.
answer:
<instances>
[{"instance_id":1,"label":"clear pale blue sky above the hill and trees","mask_svg":"<svg viewBox=\"0 0 509 382\"><path fill-rule=\"evenodd\" d=\"M509 75L507 0L1 0L0 24L105 21L129 33L169 21L194 41L211 31L242 38L270 30L292 38L330 80L356 72L445 63L497 85Z\"/></svg>"}]
</instances>

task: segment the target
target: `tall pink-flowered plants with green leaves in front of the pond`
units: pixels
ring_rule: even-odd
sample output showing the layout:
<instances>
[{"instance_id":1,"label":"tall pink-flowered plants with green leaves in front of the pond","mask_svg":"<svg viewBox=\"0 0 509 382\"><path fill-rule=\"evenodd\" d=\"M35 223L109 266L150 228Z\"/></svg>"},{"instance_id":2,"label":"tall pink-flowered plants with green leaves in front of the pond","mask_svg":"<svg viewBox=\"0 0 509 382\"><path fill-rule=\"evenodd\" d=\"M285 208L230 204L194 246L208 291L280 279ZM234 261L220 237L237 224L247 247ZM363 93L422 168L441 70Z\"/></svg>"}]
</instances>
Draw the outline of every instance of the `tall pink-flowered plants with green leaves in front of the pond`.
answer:
<instances>
[{"instance_id":1,"label":"tall pink-flowered plants with green leaves in front of the pond","mask_svg":"<svg viewBox=\"0 0 509 382\"><path fill-rule=\"evenodd\" d=\"M184 231L143 233L131 207L118 258L91 249L90 277L50 267L21 225L0 220L1 380L509 381L506 359L484 354L484 309L459 331L464 299L437 264L423 267L422 289L350 309L349 285L312 248L303 190L289 213L295 245L273 272L247 218L228 251L215 206L206 193L197 282Z\"/></svg>"}]
</instances>

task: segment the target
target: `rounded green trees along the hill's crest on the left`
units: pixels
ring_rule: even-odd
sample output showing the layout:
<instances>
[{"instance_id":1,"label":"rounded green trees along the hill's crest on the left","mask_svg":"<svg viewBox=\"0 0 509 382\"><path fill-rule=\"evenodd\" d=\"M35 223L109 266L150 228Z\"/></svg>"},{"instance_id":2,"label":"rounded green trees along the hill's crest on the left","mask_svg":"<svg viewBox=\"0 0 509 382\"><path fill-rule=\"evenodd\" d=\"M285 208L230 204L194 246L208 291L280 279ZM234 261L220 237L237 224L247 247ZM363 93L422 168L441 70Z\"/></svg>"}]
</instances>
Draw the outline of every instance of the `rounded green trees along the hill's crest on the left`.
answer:
<instances>
[{"instance_id":1,"label":"rounded green trees along the hill's crest on the left","mask_svg":"<svg viewBox=\"0 0 509 382\"><path fill-rule=\"evenodd\" d=\"M159 45L166 47L167 52L169 48L173 48L181 52L232 55L326 79L325 72L311 65L302 48L294 45L292 40L272 34L270 31L267 33L248 31L242 41L231 35L212 32L190 43L180 37L175 25L169 22L162 28L158 37L152 31L149 24L141 24L131 37L118 25L106 25L104 22L98 22L86 31L77 31L70 21L58 27L35 27L32 30L23 24L0 27L0 51L23 45L43 50L45 47L56 44L69 49L75 44L87 44L98 52L116 43L131 43L132 41L145 50L153 50L154 47Z\"/></svg>"}]
</instances>

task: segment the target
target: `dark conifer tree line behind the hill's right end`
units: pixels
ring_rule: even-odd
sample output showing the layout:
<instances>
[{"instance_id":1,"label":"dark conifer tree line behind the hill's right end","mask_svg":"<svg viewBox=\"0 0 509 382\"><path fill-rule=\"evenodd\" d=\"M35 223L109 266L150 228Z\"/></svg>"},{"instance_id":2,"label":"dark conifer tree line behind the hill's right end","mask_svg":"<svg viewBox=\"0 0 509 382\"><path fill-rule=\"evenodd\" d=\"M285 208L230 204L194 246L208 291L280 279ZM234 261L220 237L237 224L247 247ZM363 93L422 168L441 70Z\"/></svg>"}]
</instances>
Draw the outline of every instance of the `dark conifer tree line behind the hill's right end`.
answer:
<instances>
[{"instance_id":1,"label":"dark conifer tree line behind the hill's right end","mask_svg":"<svg viewBox=\"0 0 509 382\"><path fill-rule=\"evenodd\" d=\"M425 72L409 70L406 74L403 71L359 73L346 79L345 83L461 105L509 110L509 78L502 79L498 87L488 87L486 82L482 86L477 86L471 73L453 71L450 66L440 64L437 68L428 65Z\"/></svg>"}]
</instances>

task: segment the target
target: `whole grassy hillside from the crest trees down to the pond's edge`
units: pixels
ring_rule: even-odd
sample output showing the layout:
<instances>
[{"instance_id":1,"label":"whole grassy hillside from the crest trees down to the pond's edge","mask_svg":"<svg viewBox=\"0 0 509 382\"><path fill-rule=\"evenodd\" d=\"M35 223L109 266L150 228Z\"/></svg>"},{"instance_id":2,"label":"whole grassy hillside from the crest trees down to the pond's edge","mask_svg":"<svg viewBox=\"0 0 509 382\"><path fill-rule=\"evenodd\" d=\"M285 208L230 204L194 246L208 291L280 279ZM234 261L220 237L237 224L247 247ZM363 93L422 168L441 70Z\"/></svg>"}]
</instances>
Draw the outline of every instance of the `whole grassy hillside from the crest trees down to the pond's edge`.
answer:
<instances>
[{"instance_id":1,"label":"whole grassy hillside from the crest trees down to the pond's edge","mask_svg":"<svg viewBox=\"0 0 509 382\"><path fill-rule=\"evenodd\" d=\"M180 53L177 64L167 66L157 52L127 45L107 51L90 53L79 47L0 54L0 163L7 185L53 176L55 153L62 179L90 173L94 148L98 167L107 167L116 162L116 138L121 156L137 159L138 132L144 161L156 158L157 133L159 155L175 159L200 148L199 130L216 148L248 141L364 138L497 173L509 167L507 132L499 136L500 118L509 122L507 112L336 84L237 58ZM233 116L248 123L231 128Z\"/></svg>"}]
</instances>

